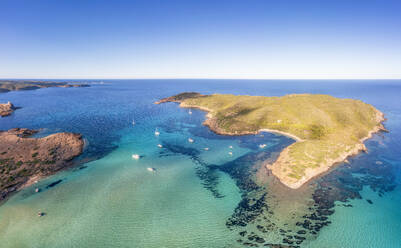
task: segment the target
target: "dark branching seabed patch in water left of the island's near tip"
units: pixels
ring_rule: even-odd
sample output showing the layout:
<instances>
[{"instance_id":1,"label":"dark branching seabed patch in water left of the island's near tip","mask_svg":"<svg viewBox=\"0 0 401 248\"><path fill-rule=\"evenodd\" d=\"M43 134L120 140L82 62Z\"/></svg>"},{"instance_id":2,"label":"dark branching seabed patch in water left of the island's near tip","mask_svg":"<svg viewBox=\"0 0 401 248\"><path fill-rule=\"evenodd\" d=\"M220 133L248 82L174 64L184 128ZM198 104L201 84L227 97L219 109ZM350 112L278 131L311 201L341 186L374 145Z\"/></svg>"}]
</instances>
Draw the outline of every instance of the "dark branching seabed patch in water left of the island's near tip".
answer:
<instances>
[{"instance_id":1,"label":"dark branching seabed patch in water left of the island's near tip","mask_svg":"<svg viewBox=\"0 0 401 248\"><path fill-rule=\"evenodd\" d=\"M260 142L267 143L268 138L270 137L261 136L257 139ZM257 152L249 152L241 157L220 165L205 163L200 158L200 151L195 148L168 142L162 143L163 149L159 152L159 156L184 155L189 157L198 165L196 167L196 173L201 179L203 186L216 198L224 197L218 192L219 173L224 172L233 178L240 189L242 199L235 208L232 216L227 220L226 226L231 230L237 230L238 228L246 227L249 223L258 223L255 232L248 234L245 230L239 231L239 236L246 238L247 240L244 241L240 238L237 242L244 246L259 247L266 242L264 235L275 229L276 224L270 223L265 217L265 214L273 213L269 211L269 207L266 203L266 189L259 186L254 181L254 175L258 170L258 168L255 167L255 163L271 158L274 153L279 152L292 142L292 140L284 138L280 144L277 144L268 150L258 149ZM284 233L286 232L287 231L284 231Z\"/></svg>"}]
</instances>

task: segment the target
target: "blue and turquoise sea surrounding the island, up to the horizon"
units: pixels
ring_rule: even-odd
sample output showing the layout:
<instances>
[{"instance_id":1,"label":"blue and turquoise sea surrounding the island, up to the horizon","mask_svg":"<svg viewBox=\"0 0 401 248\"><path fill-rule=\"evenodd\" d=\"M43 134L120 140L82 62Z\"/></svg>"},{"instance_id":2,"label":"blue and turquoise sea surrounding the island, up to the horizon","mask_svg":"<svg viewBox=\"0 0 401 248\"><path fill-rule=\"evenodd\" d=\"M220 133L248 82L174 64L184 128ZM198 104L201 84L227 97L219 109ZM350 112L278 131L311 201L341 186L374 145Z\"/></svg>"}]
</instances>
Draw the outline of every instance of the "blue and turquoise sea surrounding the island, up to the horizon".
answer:
<instances>
[{"instance_id":1,"label":"blue and turquoise sea surrounding the island, up to the horizon","mask_svg":"<svg viewBox=\"0 0 401 248\"><path fill-rule=\"evenodd\" d=\"M401 247L401 80L80 82L91 87L0 94L22 107L0 118L0 130L77 132L87 144L79 165L0 205L0 247ZM263 164L293 140L216 135L200 110L153 104L184 91L360 99L385 114L390 132L289 190Z\"/></svg>"}]
</instances>

